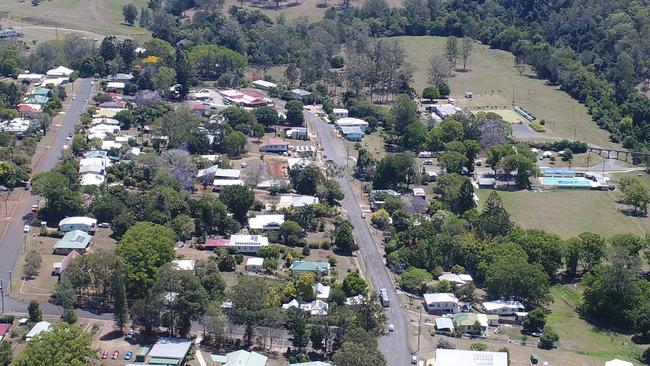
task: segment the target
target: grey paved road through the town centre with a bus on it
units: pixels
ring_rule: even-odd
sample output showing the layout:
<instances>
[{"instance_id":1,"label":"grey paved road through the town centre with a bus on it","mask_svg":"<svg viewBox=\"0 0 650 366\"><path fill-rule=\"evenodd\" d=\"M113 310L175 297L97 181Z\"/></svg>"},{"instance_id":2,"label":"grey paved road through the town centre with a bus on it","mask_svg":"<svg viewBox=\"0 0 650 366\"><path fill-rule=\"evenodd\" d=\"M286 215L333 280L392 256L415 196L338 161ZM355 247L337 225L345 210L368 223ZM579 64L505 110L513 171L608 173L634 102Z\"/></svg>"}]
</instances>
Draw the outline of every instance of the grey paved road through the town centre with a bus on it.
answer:
<instances>
[{"instance_id":1,"label":"grey paved road through the town centre with a bus on it","mask_svg":"<svg viewBox=\"0 0 650 366\"><path fill-rule=\"evenodd\" d=\"M320 118L305 112L305 120L318 135L318 142L327 154L328 159L338 166L345 166L346 154L341 141L334 135L331 125ZM359 245L361 260L365 265L367 276L375 290L385 288L390 298L390 307L386 308L388 322L395 325L395 332L379 339L379 349L384 354L388 365L403 366L410 363L411 350L408 345L408 324L402 309L402 304L391 282L384 259L379 253L375 240L370 232L368 223L361 218L361 207L357 201L352 185L347 176L336 178L341 185L345 198L343 208L347 211L348 220L354 226L354 236Z\"/></svg>"}]
</instances>

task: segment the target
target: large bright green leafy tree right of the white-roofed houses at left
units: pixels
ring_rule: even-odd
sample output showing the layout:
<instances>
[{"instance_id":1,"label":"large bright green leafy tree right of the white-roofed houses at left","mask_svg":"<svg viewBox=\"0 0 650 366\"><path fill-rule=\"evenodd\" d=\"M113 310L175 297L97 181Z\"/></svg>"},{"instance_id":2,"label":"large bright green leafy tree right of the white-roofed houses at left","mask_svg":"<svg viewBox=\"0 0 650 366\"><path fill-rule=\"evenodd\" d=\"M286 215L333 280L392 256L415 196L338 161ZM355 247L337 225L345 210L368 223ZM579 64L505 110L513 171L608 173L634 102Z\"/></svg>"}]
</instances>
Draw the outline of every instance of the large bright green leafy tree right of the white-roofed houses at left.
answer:
<instances>
[{"instance_id":1,"label":"large bright green leafy tree right of the white-roofed houses at left","mask_svg":"<svg viewBox=\"0 0 650 366\"><path fill-rule=\"evenodd\" d=\"M138 222L120 239L116 254L124 261L127 295L144 297L159 268L174 257L174 232L162 225Z\"/></svg>"}]
</instances>

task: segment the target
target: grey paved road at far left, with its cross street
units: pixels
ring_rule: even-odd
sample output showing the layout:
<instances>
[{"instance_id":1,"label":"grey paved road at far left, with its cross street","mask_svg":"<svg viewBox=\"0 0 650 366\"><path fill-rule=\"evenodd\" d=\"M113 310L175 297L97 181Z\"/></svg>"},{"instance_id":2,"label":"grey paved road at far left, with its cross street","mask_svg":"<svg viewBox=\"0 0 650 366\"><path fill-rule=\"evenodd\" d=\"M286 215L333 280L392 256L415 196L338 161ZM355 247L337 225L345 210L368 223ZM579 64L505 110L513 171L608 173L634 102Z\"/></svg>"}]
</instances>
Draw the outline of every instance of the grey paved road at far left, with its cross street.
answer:
<instances>
[{"instance_id":1,"label":"grey paved road at far left, with its cross street","mask_svg":"<svg viewBox=\"0 0 650 366\"><path fill-rule=\"evenodd\" d=\"M72 95L70 95L68 99L70 106L62 119L61 126L50 126L51 131L55 134L54 139L48 150L42 155L42 158L32 162L32 175L54 168L61 155L63 145L66 143L66 137L74 132L74 127L79 122L84 111L86 106L84 100L90 97L91 92L91 79L79 80L76 90L72 94L77 96L76 100L72 100ZM0 237L0 279L4 282L5 295L9 292L9 271L15 268L16 261L25 243L23 227L31 222L33 218L31 207L36 202L37 197L32 196L31 191L21 192L16 209L9 217L7 230ZM44 268L43 270L47 271L49 269ZM13 291L16 292L18 289L14 288ZM25 303L11 299L8 296L5 296L4 301L5 311L7 312L25 312L27 309ZM62 313L61 308L52 304L43 304L42 310L46 314L58 315ZM84 311L80 311L79 315L82 317L97 317Z\"/></svg>"}]
</instances>

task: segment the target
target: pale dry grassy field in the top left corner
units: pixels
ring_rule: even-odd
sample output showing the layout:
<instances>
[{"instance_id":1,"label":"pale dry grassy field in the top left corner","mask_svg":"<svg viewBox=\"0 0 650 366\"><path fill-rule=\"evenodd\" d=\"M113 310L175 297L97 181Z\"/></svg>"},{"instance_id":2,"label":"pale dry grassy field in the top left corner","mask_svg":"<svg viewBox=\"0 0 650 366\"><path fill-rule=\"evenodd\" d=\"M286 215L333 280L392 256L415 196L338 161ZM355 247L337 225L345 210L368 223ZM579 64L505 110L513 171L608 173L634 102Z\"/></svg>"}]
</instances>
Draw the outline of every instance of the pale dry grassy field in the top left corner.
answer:
<instances>
[{"instance_id":1,"label":"pale dry grassy field in the top left corner","mask_svg":"<svg viewBox=\"0 0 650 366\"><path fill-rule=\"evenodd\" d=\"M146 6L146 0L52 0L32 6L29 1L5 0L0 2L0 13L6 13L3 25L26 27L25 35L38 40L37 34L54 38L54 29L34 26L69 28L90 31L100 35L137 36L148 32L140 27L122 24L122 7L133 3L138 9ZM34 27L34 28L30 28ZM52 33L52 34L50 34ZM59 31L62 37L66 31Z\"/></svg>"}]
</instances>

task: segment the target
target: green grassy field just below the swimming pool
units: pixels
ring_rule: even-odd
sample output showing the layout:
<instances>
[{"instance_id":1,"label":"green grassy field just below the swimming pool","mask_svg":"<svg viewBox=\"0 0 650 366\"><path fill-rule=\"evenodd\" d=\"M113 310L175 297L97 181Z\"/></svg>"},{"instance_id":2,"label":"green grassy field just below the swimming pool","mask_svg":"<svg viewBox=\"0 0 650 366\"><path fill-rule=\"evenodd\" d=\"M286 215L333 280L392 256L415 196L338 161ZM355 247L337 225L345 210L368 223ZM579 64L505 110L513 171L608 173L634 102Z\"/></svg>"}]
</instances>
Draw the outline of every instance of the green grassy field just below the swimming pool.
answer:
<instances>
[{"instance_id":1,"label":"green grassy field just below the swimming pool","mask_svg":"<svg viewBox=\"0 0 650 366\"><path fill-rule=\"evenodd\" d=\"M477 194L484 204L491 190ZM563 238L591 231L606 237L619 233L645 234L647 218L629 217L616 202L618 192L556 190L547 192L500 191L499 195L511 219L526 229L543 229Z\"/></svg>"}]
</instances>

